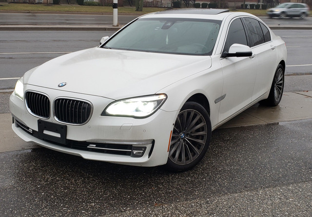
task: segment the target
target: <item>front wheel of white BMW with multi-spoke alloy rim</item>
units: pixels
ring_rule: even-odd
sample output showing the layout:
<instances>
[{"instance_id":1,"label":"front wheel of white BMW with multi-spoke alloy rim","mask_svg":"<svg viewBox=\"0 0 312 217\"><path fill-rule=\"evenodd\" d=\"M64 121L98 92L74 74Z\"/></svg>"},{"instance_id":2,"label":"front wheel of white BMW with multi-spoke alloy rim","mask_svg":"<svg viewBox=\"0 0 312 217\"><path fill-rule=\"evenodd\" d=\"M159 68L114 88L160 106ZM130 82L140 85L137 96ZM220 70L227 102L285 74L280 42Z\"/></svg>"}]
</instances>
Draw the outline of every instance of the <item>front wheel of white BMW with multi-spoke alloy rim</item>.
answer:
<instances>
[{"instance_id":1,"label":"front wheel of white BMW with multi-spoke alloy rim","mask_svg":"<svg viewBox=\"0 0 312 217\"><path fill-rule=\"evenodd\" d=\"M166 168L175 172L193 168L207 152L211 131L207 110L186 102L176 118Z\"/></svg>"}]
</instances>

